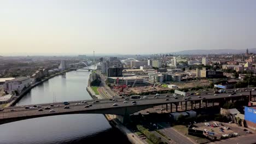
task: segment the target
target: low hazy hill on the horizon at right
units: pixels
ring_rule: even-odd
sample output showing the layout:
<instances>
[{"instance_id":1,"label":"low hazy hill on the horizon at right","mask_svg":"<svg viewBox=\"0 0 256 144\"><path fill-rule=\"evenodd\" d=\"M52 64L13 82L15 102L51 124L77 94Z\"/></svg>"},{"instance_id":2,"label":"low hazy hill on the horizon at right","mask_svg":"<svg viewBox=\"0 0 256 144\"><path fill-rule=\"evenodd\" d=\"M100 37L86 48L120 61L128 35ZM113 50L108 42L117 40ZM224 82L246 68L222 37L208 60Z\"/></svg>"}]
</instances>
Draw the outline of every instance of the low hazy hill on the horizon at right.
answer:
<instances>
[{"instance_id":1,"label":"low hazy hill on the horizon at right","mask_svg":"<svg viewBox=\"0 0 256 144\"><path fill-rule=\"evenodd\" d=\"M248 49L249 53L256 53L256 48ZM178 52L172 52L173 54L179 55L206 55L206 54L224 54L224 53L245 53L246 49L235 50L235 49L218 49L218 50L184 50Z\"/></svg>"}]
</instances>

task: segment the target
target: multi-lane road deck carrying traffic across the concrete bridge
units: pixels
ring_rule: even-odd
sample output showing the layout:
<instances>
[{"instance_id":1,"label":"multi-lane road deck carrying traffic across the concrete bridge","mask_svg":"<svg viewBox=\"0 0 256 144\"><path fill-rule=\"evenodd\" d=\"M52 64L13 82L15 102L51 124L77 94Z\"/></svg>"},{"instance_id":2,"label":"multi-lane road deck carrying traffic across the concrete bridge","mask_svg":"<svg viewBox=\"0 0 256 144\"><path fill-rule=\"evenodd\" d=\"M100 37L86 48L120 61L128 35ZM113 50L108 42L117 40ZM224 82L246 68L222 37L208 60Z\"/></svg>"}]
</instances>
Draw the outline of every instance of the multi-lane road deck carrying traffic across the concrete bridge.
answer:
<instances>
[{"instance_id":1,"label":"multi-lane road deck carrying traffic across the concrete bridge","mask_svg":"<svg viewBox=\"0 0 256 144\"><path fill-rule=\"evenodd\" d=\"M242 96L244 95L244 96ZM223 93L218 95L201 95L201 98L198 98L197 95L190 96L190 100L209 100L209 99L221 99L221 98L235 98L235 97L245 97L246 95L249 95L249 92L240 92L235 95L229 96L229 93ZM256 95L256 92L252 92L252 95ZM205 99L203 99L205 98ZM27 116L51 116L51 115L65 115L68 113L86 113L86 111L91 110L107 110L107 109L119 109L121 107L131 107L131 106L140 106L140 105L162 105L162 104L170 104L170 103L178 103L183 100L183 96L178 96L177 99L174 99L173 97L167 98L162 95L158 96L157 98L154 98L153 95L147 96L147 98L142 99L136 99L137 105L132 105L132 101L135 101L135 99L129 99L127 100L128 103L123 103L125 98L115 98L117 101L109 100L109 99L101 99L99 103L93 104L93 101L95 100L86 100L87 104L81 103L81 101L71 101L69 102L70 109L63 109L65 105L63 103L55 103L54 106L50 106L51 104L40 104L42 106L43 111L38 111L40 108L34 108L34 109L25 109L26 106L15 106L15 107L8 107L3 109L3 111L0 112L0 120L2 119L8 119L8 118L16 118L16 117L27 117ZM187 100L187 101L190 101ZM77 104L79 103L79 104ZM114 103L117 103L118 106L113 106ZM76 105L77 104L77 105ZM85 108L85 105L91 104L92 106ZM59 105L59 106L58 106ZM33 105L27 105L29 107L33 107ZM44 110L44 107L51 107L51 110L55 110L55 112L49 112L49 110ZM89 112L90 113L90 112ZM106 114L106 113L105 113ZM111 113L110 113L111 114Z\"/></svg>"}]
</instances>

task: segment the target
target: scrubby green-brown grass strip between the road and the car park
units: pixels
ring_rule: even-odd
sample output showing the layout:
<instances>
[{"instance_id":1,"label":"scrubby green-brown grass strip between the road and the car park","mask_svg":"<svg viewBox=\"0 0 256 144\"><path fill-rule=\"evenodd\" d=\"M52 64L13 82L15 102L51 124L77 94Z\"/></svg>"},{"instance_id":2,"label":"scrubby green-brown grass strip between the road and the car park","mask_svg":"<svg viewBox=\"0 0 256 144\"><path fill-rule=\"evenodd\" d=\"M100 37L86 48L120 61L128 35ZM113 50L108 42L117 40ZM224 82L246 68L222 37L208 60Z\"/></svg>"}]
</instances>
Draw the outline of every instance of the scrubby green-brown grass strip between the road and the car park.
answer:
<instances>
[{"instance_id":1,"label":"scrubby green-brown grass strip between the road and the car park","mask_svg":"<svg viewBox=\"0 0 256 144\"><path fill-rule=\"evenodd\" d=\"M174 125L172 128L179 131L179 133L182 133L183 135L189 137L190 139L193 139L193 140L197 141L198 143L210 142L209 140L203 139L202 137L188 135L188 128L186 128L185 125Z\"/></svg>"}]
</instances>

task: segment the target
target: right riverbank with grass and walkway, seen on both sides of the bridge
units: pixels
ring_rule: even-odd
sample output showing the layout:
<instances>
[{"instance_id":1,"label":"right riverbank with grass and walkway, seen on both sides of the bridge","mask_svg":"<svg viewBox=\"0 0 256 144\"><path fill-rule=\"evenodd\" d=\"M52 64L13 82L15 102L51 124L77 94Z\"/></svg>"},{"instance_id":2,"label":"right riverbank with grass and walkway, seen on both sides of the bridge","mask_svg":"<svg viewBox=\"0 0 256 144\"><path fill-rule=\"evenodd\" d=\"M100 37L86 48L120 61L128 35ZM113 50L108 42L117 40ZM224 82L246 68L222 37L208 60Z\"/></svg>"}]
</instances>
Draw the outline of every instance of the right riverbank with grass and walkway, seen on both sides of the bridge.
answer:
<instances>
[{"instance_id":1,"label":"right riverbank with grass and walkway, seen on both sides of the bridge","mask_svg":"<svg viewBox=\"0 0 256 144\"><path fill-rule=\"evenodd\" d=\"M91 75L90 75L91 76ZM89 76L89 77L90 77ZM90 84L88 83L88 87L86 87L88 93L91 95L91 97L94 99L104 99L104 98L111 98L109 97L107 94L95 94L95 92L92 90L92 88L90 87ZM98 89L101 89L100 87ZM121 131L121 133L123 133L127 139L133 143L133 144L146 144L145 142L143 142L141 139L139 139L139 137L132 133L132 131L130 131L129 129L127 129L123 124L121 124L118 120L118 118L116 117L116 115L104 115L107 119L107 121L109 122L109 124L114 127L117 128Z\"/></svg>"}]
</instances>

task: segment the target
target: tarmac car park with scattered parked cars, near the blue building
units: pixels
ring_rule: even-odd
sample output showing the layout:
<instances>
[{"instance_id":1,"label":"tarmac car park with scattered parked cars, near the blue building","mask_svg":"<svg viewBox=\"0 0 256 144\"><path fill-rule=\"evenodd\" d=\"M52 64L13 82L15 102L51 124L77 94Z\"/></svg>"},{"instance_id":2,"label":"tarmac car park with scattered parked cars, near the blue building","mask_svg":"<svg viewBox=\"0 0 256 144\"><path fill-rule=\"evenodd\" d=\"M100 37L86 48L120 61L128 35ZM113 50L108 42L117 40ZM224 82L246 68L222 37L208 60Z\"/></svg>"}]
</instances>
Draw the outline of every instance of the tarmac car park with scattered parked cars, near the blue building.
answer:
<instances>
[{"instance_id":1,"label":"tarmac car park with scattered parked cars, near the blue building","mask_svg":"<svg viewBox=\"0 0 256 144\"><path fill-rule=\"evenodd\" d=\"M205 123L209 123L209 126L206 126ZM217 123L217 127L216 127L216 123ZM222 125L220 125L222 124ZM198 130L206 130L206 131L212 131L214 133L214 136L217 137L217 139L220 139L220 137L222 135L225 134L233 134L233 133L237 133L238 136L239 135L246 135L248 134L243 128L243 127L238 127L237 124L235 123L220 123L217 121L210 121L210 122L204 122L204 123L195 123L195 129ZM215 127L214 127L215 125ZM223 130L220 130L220 129ZM225 129L228 128L228 129ZM249 130L249 129L248 129ZM252 131L250 131L252 133Z\"/></svg>"}]
</instances>

